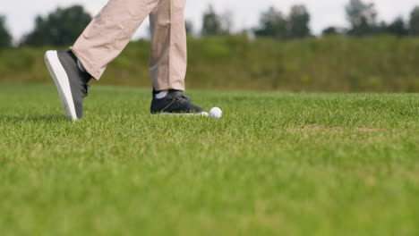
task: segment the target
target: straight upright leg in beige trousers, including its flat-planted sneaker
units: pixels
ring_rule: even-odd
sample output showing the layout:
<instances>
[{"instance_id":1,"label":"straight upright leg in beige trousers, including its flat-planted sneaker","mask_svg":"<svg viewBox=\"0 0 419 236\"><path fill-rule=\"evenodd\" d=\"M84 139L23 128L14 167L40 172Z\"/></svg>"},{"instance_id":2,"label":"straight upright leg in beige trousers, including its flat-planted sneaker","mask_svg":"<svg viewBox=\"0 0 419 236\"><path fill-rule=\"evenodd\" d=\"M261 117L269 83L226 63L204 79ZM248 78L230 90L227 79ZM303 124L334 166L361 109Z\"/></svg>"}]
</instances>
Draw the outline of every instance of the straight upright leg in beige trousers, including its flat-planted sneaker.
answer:
<instances>
[{"instance_id":1,"label":"straight upright leg in beige trousers, including its flat-planted sneaker","mask_svg":"<svg viewBox=\"0 0 419 236\"><path fill-rule=\"evenodd\" d=\"M207 114L184 96L186 74L185 0L162 0L150 13L151 114Z\"/></svg>"}]
</instances>

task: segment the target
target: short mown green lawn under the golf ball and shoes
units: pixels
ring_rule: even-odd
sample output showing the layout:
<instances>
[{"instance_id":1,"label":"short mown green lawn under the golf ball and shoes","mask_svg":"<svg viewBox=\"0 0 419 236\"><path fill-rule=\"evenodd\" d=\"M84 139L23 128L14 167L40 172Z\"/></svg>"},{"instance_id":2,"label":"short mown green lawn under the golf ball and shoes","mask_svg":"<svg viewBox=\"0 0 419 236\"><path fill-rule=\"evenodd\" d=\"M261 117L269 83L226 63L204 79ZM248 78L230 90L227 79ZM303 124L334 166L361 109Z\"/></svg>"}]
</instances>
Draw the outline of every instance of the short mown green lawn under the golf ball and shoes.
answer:
<instances>
[{"instance_id":1,"label":"short mown green lawn under the golf ball and shoes","mask_svg":"<svg viewBox=\"0 0 419 236\"><path fill-rule=\"evenodd\" d=\"M417 235L419 95L0 86L2 235Z\"/></svg>"}]
</instances>

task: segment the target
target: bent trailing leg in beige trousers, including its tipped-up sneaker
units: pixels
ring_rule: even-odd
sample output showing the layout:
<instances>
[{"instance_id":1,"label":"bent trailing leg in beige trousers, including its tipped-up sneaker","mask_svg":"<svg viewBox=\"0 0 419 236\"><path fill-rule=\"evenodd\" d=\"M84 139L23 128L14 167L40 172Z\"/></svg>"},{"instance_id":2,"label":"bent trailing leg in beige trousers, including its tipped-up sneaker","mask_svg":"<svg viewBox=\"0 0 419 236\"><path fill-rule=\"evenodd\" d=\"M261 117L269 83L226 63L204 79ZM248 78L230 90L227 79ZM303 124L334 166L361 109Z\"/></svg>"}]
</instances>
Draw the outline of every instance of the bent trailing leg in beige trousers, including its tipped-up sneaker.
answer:
<instances>
[{"instance_id":1,"label":"bent trailing leg in beige trousers, including its tipped-up sneaker","mask_svg":"<svg viewBox=\"0 0 419 236\"><path fill-rule=\"evenodd\" d=\"M91 77L99 79L141 22L166 0L109 0L71 51L47 51L45 61L69 120L81 119Z\"/></svg>"}]
</instances>

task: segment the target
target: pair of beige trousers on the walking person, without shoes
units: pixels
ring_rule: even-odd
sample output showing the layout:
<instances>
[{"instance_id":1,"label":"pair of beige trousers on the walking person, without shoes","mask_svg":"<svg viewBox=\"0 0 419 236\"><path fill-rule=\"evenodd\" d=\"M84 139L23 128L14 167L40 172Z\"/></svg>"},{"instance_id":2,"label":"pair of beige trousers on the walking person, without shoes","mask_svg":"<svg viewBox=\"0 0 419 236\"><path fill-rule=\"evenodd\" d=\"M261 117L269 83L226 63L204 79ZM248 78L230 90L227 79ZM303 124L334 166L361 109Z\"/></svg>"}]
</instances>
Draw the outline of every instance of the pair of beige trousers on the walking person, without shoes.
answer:
<instances>
[{"instance_id":1,"label":"pair of beige trousers on the walking person, without shoes","mask_svg":"<svg viewBox=\"0 0 419 236\"><path fill-rule=\"evenodd\" d=\"M109 0L71 48L98 80L150 15L150 77L156 90L184 90L186 0Z\"/></svg>"}]
</instances>

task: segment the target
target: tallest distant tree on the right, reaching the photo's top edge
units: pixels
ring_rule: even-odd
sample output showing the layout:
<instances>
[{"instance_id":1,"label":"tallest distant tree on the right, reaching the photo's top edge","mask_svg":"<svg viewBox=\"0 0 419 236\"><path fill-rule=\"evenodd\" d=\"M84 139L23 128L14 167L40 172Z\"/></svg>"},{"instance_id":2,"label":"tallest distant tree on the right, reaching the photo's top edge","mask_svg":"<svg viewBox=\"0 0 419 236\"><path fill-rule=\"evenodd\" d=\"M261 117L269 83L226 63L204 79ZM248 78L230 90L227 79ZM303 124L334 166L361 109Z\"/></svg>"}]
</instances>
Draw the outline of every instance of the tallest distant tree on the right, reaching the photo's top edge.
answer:
<instances>
[{"instance_id":1,"label":"tallest distant tree on the right, reaching the photo's top edge","mask_svg":"<svg viewBox=\"0 0 419 236\"><path fill-rule=\"evenodd\" d=\"M374 4L364 4L361 0L350 0L346 5L346 18L351 24L350 35L363 36L377 30L377 11Z\"/></svg>"}]
</instances>

